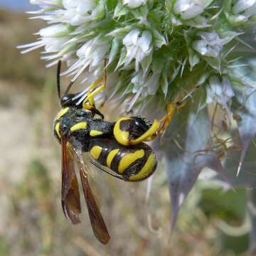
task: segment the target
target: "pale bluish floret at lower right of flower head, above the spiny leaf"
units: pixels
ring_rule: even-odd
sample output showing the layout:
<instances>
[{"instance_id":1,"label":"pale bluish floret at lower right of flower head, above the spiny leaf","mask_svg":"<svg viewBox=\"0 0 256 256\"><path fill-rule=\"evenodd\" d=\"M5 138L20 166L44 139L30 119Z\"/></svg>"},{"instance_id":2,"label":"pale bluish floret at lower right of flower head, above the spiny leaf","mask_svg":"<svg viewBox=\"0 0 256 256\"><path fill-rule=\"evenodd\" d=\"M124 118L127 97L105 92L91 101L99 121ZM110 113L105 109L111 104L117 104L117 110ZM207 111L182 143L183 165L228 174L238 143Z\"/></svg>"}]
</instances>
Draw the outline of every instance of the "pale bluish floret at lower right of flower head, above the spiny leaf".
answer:
<instances>
[{"instance_id":1,"label":"pale bluish floret at lower right of flower head, above the spiny leaf","mask_svg":"<svg viewBox=\"0 0 256 256\"><path fill-rule=\"evenodd\" d=\"M228 100L235 95L232 90L230 80L228 80L228 78L223 78L223 81L220 82L216 75L210 77L206 92L206 103L218 102L223 105L223 107L225 107Z\"/></svg>"}]
</instances>

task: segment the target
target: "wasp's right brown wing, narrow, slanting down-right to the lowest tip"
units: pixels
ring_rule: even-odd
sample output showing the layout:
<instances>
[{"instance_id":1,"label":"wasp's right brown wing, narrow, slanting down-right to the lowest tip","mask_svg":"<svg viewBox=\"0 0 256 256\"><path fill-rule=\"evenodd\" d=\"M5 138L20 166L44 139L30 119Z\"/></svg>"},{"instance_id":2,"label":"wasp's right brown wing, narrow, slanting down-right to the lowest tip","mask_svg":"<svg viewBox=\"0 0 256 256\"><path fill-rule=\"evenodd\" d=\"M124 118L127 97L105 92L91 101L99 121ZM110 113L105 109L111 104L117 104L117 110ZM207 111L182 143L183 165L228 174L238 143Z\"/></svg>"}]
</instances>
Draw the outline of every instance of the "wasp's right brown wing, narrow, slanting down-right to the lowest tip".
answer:
<instances>
[{"instance_id":1,"label":"wasp's right brown wing, narrow, slanting down-right to the lowest tip","mask_svg":"<svg viewBox=\"0 0 256 256\"><path fill-rule=\"evenodd\" d=\"M83 161L81 152L77 152L77 156L80 159L78 161L78 166L80 169L82 190L85 196L85 202L90 217L90 223L92 225L92 230L97 240L99 240L103 245L106 245L110 240L110 234L107 231L105 221L100 213L100 208L97 206L95 197L93 196L90 188L90 183L88 181L88 174L90 173L90 170Z\"/></svg>"}]
</instances>

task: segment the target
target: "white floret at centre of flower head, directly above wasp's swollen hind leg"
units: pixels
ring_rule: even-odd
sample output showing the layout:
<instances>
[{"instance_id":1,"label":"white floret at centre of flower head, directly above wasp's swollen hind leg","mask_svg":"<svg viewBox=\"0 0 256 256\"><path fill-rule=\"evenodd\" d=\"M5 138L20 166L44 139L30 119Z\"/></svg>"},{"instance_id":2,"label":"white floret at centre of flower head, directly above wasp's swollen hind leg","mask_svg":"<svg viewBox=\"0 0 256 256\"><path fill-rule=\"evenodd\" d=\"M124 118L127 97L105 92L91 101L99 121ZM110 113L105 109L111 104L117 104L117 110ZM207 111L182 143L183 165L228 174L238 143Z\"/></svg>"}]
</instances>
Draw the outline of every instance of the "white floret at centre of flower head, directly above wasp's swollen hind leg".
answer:
<instances>
[{"instance_id":1,"label":"white floret at centre of flower head, directly above wasp's swollen hind leg","mask_svg":"<svg viewBox=\"0 0 256 256\"><path fill-rule=\"evenodd\" d=\"M126 47L127 55L124 60L124 67L135 59L135 69L139 70L139 63L152 51L152 35L149 31L139 31L134 28L124 36L123 44Z\"/></svg>"}]
</instances>

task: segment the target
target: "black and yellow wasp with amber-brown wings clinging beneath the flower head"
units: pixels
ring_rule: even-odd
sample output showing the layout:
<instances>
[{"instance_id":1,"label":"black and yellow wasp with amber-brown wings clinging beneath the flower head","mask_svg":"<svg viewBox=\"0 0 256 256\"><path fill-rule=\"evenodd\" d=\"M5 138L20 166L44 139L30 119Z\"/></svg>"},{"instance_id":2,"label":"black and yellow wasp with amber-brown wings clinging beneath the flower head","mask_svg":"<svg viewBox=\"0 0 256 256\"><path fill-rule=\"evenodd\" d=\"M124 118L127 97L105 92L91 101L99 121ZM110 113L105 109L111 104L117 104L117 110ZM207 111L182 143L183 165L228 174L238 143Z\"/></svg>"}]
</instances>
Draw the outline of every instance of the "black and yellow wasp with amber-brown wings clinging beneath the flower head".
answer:
<instances>
[{"instance_id":1,"label":"black and yellow wasp with amber-brown wings clinging beneath the flower head","mask_svg":"<svg viewBox=\"0 0 256 256\"><path fill-rule=\"evenodd\" d=\"M142 181L154 173L156 155L144 144L156 137L160 121L149 124L142 117L121 117L107 122L95 107L94 96L105 88L100 80L90 85L87 92L68 93L68 86L60 97L60 62L57 86L61 110L53 124L53 133L62 148L62 207L71 223L80 223L80 193L75 176L75 164L80 169L82 190L96 238L106 244L110 240L105 222L97 206L88 181L88 163L82 157L90 154L90 161L98 169L124 181Z\"/></svg>"}]
</instances>

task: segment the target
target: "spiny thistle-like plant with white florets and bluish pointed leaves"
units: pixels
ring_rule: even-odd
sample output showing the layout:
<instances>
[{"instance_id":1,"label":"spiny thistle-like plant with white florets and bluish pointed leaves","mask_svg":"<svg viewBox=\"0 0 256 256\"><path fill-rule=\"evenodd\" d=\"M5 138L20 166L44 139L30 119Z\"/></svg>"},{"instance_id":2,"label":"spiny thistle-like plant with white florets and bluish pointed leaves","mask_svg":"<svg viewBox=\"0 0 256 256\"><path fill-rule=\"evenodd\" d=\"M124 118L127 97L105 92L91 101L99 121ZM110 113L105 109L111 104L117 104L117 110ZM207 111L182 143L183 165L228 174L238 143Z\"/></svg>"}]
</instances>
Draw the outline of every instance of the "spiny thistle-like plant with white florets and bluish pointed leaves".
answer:
<instances>
[{"instance_id":1,"label":"spiny thistle-like plant with white florets and bluish pointed leaves","mask_svg":"<svg viewBox=\"0 0 256 256\"><path fill-rule=\"evenodd\" d=\"M166 160L173 225L205 167L231 186L255 186L248 173L256 168L256 0L31 4L41 8L32 18L48 26L38 31L38 41L20 46L22 53L44 48L48 67L63 60L63 75L84 77L84 85L107 70L115 79L106 95L149 117L185 95L186 105L154 142Z\"/></svg>"}]
</instances>

